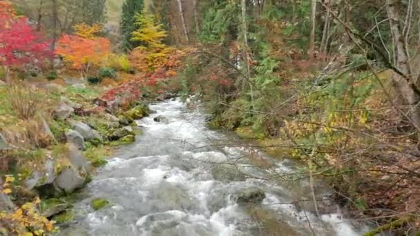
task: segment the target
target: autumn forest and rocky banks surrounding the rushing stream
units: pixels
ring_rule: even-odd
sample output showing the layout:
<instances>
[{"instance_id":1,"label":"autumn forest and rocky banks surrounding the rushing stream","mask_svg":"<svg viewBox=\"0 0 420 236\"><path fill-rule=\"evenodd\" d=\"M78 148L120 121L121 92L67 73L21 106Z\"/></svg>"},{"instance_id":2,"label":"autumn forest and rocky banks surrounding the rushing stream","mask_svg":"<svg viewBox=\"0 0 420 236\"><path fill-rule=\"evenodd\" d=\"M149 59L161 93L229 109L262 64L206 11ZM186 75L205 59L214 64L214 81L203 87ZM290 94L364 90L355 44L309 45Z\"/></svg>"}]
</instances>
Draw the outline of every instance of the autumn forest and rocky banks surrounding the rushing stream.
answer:
<instances>
[{"instance_id":1,"label":"autumn forest and rocky banks surrounding the rushing stream","mask_svg":"<svg viewBox=\"0 0 420 236\"><path fill-rule=\"evenodd\" d=\"M316 218L321 181L360 235L420 235L418 0L0 0L0 235L72 235L81 192L171 99L296 161L266 180L307 181L292 200ZM249 235L305 235L255 214L277 231Z\"/></svg>"}]
</instances>

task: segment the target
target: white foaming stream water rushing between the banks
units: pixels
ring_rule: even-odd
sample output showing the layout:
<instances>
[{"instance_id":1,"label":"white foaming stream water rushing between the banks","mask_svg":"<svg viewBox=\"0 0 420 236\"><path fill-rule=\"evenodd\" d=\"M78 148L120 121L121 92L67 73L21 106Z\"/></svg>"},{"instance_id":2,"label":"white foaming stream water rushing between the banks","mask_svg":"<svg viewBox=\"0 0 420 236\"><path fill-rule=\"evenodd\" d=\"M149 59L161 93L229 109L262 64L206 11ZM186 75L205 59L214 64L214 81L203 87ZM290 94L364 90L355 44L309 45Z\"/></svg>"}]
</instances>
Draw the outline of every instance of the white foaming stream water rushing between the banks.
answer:
<instances>
[{"instance_id":1,"label":"white foaming stream water rushing between the banks","mask_svg":"<svg viewBox=\"0 0 420 236\"><path fill-rule=\"evenodd\" d=\"M204 115L180 101L151 109L139 121L143 134L99 170L75 206L81 216L62 235L361 235L327 188L315 185L316 198L325 198L318 217L307 180L280 181L298 168L292 161L207 129ZM153 121L161 115L169 122ZM265 199L237 204L234 195L249 187ZM95 211L94 198L112 204Z\"/></svg>"}]
</instances>

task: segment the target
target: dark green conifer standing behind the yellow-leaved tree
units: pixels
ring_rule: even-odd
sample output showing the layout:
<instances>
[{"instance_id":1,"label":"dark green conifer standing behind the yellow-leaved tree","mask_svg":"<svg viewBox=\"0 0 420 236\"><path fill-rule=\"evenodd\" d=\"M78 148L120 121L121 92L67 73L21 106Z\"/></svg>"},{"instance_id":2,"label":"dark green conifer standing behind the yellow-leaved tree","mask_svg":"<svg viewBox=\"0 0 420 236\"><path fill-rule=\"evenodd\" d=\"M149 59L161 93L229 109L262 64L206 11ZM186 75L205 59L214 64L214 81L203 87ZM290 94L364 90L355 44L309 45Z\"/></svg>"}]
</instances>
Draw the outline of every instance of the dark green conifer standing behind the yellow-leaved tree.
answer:
<instances>
[{"instance_id":1,"label":"dark green conifer standing behind the yellow-leaved tree","mask_svg":"<svg viewBox=\"0 0 420 236\"><path fill-rule=\"evenodd\" d=\"M132 33L137 30L137 26L135 26L136 15L142 14L143 8L143 0L126 0L122 6L120 28L122 34L122 49L125 51L140 46L140 43L131 41L131 37Z\"/></svg>"}]
</instances>

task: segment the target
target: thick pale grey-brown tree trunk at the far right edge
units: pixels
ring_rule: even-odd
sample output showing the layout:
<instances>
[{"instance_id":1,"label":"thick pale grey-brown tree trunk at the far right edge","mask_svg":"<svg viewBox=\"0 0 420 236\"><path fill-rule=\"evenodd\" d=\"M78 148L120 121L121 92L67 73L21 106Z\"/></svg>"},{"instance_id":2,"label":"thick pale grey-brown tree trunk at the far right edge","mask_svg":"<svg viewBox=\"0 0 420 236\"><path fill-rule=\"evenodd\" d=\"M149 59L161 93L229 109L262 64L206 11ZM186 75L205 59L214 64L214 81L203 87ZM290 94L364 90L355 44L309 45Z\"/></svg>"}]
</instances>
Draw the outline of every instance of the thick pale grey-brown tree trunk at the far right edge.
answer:
<instances>
[{"instance_id":1,"label":"thick pale grey-brown tree trunk at the far right edge","mask_svg":"<svg viewBox=\"0 0 420 236\"><path fill-rule=\"evenodd\" d=\"M398 5L401 3L399 0L387 0L386 1L386 10L388 13L388 18L390 19L390 29L392 32L392 39L394 42L395 48L395 57L396 57L396 67L405 75L394 74L393 80L394 85L401 96L400 101L404 105L410 106L410 118L413 121L413 125L417 129L420 128L420 106L419 101L420 97L415 90L418 90L417 84L412 77L410 70L410 58L407 55L405 50L405 44L403 35L401 34L401 29L399 26L399 12Z\"/></svg>"}]
</instances>

